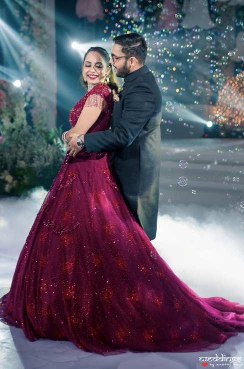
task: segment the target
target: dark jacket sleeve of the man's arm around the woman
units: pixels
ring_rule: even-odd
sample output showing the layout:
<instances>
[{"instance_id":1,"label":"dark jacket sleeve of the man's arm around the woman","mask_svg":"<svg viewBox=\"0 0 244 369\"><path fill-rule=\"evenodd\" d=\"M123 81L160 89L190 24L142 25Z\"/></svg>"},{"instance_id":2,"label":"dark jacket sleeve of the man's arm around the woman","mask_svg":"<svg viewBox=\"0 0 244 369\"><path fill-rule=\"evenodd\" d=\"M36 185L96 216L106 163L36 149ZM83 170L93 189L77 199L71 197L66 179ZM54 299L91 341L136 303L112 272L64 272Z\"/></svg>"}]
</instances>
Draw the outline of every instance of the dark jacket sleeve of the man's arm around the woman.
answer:
<instances>
[{"instance_id":1,"label":"dark jacket sleeve of the man's arm around the woman","mask_svg":"<svg viewBox=\"0 0 244 369\"><path fill-rule=\"evenodd\" d=\"M122 116L112 130L84 135L86 151L114 151L131 144L154 111L152 87L142 82L131 85L124 96Z\"/></svg>"}]
</instances>

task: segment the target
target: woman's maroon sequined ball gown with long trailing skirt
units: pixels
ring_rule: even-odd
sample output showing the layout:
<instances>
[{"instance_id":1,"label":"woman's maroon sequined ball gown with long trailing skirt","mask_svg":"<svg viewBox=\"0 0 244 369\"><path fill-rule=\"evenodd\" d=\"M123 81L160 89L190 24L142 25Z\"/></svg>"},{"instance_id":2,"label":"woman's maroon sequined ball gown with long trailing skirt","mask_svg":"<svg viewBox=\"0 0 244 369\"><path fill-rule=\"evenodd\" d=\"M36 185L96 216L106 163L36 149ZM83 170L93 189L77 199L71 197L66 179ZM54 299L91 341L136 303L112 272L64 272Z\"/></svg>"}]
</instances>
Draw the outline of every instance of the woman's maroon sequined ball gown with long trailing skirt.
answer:
<instances>
[{"instance_id":1,"label":"woman's maroon sequined ball gown with long trailing skirt","mask_svg":"<svg viewBox=\"0 0 244 369\"><path fill-rule=\"evenodd\" d=\"M108 129L113 101L101 84L70 123L91 95L106 108L89 132ZM201 299L158 256L123 202L109 152L65 156L0 301L1 321L29 341L102 355L213 350L244 332L243 306Z\"/></svg>"}]
</instances>

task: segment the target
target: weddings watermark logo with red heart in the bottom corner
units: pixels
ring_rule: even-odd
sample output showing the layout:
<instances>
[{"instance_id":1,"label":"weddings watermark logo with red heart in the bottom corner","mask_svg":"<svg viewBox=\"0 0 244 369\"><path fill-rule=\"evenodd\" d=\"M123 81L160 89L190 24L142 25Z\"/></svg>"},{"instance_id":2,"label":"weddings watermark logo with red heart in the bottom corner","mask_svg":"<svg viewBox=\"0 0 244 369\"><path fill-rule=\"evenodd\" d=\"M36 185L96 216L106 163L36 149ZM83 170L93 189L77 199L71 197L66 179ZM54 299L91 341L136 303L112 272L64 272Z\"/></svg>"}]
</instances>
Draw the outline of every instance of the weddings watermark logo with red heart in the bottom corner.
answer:
<instances>
[{"instance_id":1,"label":"weddings watermark logo with red heart in the bottom corner","mask_svg":"<svg viewBox=\"0 0 244 369\"><path fill-rule=\"evenodd\" d=\"M243 367L243 364L241 363L241 357L232 357L232 356L225 356L221 354L221 356L199 356L199 361L201 362L201 365L206 368L213 368L216 367Z\"/></svg>"}]
</instances>

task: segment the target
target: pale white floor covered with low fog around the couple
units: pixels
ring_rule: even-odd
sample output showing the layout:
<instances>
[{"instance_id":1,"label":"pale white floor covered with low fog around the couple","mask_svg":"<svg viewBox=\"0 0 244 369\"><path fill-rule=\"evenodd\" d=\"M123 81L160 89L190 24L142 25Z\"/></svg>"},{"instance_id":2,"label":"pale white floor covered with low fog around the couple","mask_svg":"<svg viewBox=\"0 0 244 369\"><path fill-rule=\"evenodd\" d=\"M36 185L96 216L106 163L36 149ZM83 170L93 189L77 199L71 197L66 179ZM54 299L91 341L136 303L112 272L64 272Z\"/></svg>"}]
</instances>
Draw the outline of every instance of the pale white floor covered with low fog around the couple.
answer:
<instances>
[{"instance_id":1,"label":"pale white floor covered with low fog around the couple","mask_svg":"<svg viewBox=\"0 0 244 369\"><path fill-rule=\"evenodd\" d=\"M162 143L160 215L153 245L199 296L221 296L244 304L242 150L244 140ZM186 168L179 167L180 160L187 160ZM178 185L180 176L188 180L184 187ZM10 287L19 252L44 195L45 191L38 189L27 199L0 199L0 296ZM215 354L241 359L234 364L208 362L207 368L217 364L244 367L244 333L216 351L103 357L82 352L70 342L41 339L30 343L20 329L0 324L0 369L199 369L204 368L199 357Z\"/></svg>"}]
</instances>

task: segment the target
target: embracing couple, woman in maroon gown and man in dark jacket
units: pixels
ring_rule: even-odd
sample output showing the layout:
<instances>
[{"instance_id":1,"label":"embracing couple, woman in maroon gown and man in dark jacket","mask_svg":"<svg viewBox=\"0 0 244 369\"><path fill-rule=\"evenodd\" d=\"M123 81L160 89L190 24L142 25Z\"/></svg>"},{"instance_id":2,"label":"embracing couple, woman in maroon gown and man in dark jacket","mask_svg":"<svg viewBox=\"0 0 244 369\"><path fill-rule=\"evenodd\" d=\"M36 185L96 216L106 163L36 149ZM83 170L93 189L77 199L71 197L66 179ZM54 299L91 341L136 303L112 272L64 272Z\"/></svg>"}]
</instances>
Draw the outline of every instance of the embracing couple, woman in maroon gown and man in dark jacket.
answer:
<instances>
[{"instance_id":1,"label":"embracing couple, woman in maroon gown and man in dark jacket","mask_svg":"<svg viewBox=\"0 0 244 369\"><path fill-rule=\"evenodd\" d=\"M114 42L110 60L99 47L85 54L87 92L69 114L68 152L0 299L0 321L29 341L71 341L101 355L214 350L244 332L244 306L197 296L148 239L161 97L143 65L143 37ZM118 95L111 64L125 81Z\"/></svg>"}]
</instances>

